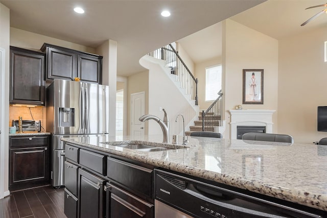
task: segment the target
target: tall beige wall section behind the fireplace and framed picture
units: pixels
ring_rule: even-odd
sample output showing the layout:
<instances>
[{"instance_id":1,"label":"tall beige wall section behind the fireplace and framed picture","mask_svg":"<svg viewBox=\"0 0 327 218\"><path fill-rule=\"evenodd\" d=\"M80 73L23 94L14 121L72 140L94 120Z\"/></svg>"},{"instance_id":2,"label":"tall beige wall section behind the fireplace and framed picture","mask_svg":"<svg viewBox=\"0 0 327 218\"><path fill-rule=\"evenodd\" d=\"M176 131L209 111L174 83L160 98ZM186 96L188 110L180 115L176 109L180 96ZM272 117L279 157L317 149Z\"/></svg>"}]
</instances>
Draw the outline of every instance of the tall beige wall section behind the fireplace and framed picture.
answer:
<instances>
[{"instance_id":1,"label":"tall beige wall section behind the fireplace and framed picture","mask_svg":"<svg viewBox=\"0 0 327 218\"><path fill-rule=\"evenodd\" d=\"M238 22L223 22L223 93L225 101L225 138L230 138L228 110L242 105L242 70L264 69L264 104L242 105L244 109L277 110L278 41ZM277 111L273 115L277 132ZM279 131L278 133L283 133ZM288 133L288 132L285 132Z\"/></svg>"}]
</instances>

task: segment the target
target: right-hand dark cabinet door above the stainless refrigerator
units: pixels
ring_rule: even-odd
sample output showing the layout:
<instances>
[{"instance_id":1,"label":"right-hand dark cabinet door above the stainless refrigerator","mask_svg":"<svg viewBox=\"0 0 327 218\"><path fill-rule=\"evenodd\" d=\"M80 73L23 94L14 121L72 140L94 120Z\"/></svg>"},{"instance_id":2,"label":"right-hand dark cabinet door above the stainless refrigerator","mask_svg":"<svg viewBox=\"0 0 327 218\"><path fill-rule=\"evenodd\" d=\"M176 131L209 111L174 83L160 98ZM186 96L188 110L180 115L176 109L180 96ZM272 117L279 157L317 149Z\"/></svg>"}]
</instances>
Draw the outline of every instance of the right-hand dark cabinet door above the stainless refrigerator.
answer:
<instances>
[{"instance_id":1,"label":"right-hand dark cabinet door above the stainless refrigerator","mask_svg":"<svg viewBox=\"0 0 327 218\"><path fill-rule=\"evenodd\" d=\"M77 76L82 81L102 84L102 57L78 54Z\"/></svg>"}]
</instances>

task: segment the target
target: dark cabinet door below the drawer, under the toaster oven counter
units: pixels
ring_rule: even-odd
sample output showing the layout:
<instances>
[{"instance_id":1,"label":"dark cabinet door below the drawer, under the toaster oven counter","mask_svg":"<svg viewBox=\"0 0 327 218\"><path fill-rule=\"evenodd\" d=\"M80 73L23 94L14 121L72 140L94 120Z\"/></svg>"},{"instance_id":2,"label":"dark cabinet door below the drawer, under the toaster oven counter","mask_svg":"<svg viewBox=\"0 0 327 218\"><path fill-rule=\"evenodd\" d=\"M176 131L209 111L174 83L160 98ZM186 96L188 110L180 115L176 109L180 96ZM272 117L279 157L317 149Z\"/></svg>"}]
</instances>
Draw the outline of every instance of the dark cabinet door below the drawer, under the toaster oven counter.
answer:
<instances>
[{"instance_id":1,"label":"dark cabinet door below the drawer, under the toaster oven counter","mask_svg":"<svg viewBox=\"0 0 327 218\"><path fill-rule=\"evenodd\" d=\"M11 149L9 180L9 185L48 181L48 147Z\"/></svg>"}]
</instances>

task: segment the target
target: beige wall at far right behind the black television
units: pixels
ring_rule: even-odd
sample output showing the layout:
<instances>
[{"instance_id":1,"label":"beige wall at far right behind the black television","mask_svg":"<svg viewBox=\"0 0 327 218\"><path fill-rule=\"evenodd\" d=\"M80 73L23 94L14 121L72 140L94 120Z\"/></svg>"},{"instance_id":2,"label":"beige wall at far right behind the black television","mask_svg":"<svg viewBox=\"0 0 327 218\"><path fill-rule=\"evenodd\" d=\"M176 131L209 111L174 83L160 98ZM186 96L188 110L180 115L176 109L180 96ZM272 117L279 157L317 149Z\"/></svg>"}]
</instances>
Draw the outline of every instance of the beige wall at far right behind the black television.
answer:
<instances>
[{"instance_id":1,"label":"beige wall at far right behind the black television","mask_svg":"<svg viewBox=\"0 0 327 218\"><path fill-rule=\"evenodd\" d=\"M295 142L312 143L327 137L317 131L317 106L327 105L325 27L279 41L278 132Z\"/></svg>"}]
</instances>

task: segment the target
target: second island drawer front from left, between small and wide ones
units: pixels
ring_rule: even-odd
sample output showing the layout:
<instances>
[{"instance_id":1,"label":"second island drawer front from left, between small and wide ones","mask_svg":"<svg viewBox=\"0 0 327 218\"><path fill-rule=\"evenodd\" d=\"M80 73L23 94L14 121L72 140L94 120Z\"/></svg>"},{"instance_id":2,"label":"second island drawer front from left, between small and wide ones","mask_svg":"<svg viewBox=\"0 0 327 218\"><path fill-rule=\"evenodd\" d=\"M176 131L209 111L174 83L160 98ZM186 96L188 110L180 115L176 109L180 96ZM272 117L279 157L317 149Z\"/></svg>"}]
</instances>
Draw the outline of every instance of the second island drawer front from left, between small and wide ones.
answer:
<instances>
[{"instance_id":1,"label":"second island drawer front from left, between small and wide ones","mask_svg":"<svg viewBox=\"0 0 327 218\"><path fill-rule=\"evenodd\" d=\"M80 164L106 176L106 158L104 155L81 149L79 157Z\"/></svg>"}]
</instances>

